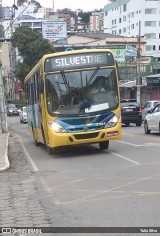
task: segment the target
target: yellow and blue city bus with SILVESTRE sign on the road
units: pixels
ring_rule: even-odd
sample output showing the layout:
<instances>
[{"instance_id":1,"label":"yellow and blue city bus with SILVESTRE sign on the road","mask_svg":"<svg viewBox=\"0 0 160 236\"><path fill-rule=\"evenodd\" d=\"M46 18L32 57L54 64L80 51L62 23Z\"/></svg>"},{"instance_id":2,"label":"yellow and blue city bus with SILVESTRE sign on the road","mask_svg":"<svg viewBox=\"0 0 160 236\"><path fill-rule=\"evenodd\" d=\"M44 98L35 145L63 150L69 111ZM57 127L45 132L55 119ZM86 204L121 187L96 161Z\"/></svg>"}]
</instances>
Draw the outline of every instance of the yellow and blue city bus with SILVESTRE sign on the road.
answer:
<instances>
[{"instance_id":1,"label":"yellow and blue city bus with SILVESTRE sign on the road","mask_svg":"<svg viewBox=\"0 0 160 236\"><path fill-rule=\"evenodd\" d=\"M118 69L108 49L44 55L25 78L28 128L49 154L121 139Z\"/></svg>"}]
</instances>

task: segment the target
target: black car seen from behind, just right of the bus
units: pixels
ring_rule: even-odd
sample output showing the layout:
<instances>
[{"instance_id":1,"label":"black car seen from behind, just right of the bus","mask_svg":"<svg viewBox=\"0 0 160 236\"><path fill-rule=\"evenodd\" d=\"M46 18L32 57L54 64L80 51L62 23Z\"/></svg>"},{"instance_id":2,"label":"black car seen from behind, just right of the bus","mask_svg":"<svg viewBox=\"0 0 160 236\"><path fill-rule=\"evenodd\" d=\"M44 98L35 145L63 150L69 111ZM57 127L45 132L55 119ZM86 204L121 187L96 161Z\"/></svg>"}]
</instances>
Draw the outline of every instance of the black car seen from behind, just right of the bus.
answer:
<instances>
[{"instance_id":1,"label":"black car seen from behind, just right of the bus","mask_svg":"<svg viewBox=\"0 0 160 236\"><path fill-rule=\"evenodd\" d=\"M121 100L122 123L129 126L135 123L136 126L142 124L142 108L136 99Z\"/></svg>"}]
</instances>

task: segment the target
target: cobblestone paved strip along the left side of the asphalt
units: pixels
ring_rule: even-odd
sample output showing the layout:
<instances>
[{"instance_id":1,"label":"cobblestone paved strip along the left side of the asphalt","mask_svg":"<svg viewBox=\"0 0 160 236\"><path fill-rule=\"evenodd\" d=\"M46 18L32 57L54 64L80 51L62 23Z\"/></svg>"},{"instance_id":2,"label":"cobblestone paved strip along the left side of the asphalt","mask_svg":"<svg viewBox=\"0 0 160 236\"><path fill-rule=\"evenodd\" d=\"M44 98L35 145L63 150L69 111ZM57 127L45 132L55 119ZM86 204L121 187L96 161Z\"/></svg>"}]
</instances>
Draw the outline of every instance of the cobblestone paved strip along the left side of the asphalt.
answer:
<instances>
[{"instance_id":1,"label":"cobblestone paved strip along the left side of the asphalt","mask_svg":"<svg viewBox=\"0 0 160 236\"><path fill-rule=\"evenodd\" d=\"M7 233L7 235L20 236L25 233L21 230L18 233L15 227L22 229L23 227L53 226L55 220L59 220L55 213L55 206L45 189L42 176L34 172L29 163L18 136L13 130L10 130L9 135L0 133L0 144L0 160L2 160L3 151L3 154L6 153L3 157L7 156L10 163L7 171L0 172L0 227L9 228L9 230L12 227L13 234ZM6 152L7 144L9 144L8 153ZM8 168L5 161L4 159L3 170ZM0 235L2 235L1 228ZM29 235L51 236L54 234Z\"/></svg>"}]
</instances>

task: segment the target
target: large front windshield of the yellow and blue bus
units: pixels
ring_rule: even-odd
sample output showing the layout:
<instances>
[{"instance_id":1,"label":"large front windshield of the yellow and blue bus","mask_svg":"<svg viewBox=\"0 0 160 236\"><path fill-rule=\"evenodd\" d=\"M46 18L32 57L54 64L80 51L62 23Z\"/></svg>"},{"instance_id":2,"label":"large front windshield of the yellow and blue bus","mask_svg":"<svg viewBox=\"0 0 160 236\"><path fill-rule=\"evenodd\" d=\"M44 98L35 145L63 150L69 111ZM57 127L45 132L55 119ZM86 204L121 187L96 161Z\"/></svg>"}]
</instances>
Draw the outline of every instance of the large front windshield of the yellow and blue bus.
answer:
<instances>
[{"instance_id":1,"label":"large front windshield of the yellow and blue bus","mask_svg":"<svg viewBox=\"0 0 160 236\"><path fill-rule=\"evenodd\" d=\"M80 115L118 106L114 68L50 73L45 81L50 114Z\"/></svg>"}]
</instances>

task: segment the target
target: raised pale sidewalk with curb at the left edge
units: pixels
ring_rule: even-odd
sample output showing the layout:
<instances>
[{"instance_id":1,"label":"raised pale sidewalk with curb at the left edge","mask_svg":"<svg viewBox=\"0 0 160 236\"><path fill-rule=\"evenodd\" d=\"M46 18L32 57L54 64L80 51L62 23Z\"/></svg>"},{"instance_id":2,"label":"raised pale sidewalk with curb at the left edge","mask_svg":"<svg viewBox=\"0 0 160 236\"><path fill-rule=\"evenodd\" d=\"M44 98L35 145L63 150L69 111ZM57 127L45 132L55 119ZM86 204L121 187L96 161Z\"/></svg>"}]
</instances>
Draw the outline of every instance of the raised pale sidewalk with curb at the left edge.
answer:
<instances>
[{"instance_id":1,"label":"raised pale sidewalk with curb at the left edge","mask_svg":"<svg viewBox=\"0 0 160 236\"><path fill-rule=\"evenodd\" d=\"M8 139L9 133L2 133L0 127L0 171L8 170L10 167L8 160Z\"/></svg>"}]
</instances>

